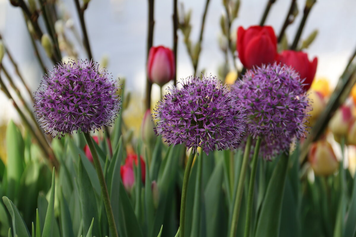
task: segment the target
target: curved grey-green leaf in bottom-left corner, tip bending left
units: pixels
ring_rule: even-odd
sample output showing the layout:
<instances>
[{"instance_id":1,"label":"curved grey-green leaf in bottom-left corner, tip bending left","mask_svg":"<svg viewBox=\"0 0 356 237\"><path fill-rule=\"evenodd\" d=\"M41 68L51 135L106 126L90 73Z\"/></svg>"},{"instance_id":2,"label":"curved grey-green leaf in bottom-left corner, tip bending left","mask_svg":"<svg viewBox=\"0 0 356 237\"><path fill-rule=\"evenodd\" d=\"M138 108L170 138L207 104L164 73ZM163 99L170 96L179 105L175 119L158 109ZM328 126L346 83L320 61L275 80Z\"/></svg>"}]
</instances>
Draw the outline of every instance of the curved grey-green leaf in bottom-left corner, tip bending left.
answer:
<instances>
[{"instance_id":1,"label":"curved grey-green leaf in bottom-left corner, tip bending left","mask_svg":"<svg viewBox=\"0 0 356 237\"><path fill-rule=\"evenodd\" d=\"M30 232L28 232L26 224L16 206L6 196L2 197L2 201L4 201L7 210L10 212L12 227L14 228L14 236L30 237Z\"/></svg>"}]
</instances>

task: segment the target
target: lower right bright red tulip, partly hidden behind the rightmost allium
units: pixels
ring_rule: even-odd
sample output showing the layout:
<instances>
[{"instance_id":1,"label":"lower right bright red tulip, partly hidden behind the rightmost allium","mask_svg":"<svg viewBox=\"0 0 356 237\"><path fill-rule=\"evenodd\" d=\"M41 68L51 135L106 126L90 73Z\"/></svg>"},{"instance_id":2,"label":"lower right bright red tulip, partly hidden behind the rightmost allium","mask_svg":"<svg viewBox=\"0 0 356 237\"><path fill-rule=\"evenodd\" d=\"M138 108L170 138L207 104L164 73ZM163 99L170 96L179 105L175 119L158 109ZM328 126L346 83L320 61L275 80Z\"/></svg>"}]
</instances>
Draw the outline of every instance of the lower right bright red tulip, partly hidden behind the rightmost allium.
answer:
<instances>
[{"instance_id":1,"label":"lower right bright red tulip, partly hidden behind the rightmost allium","mask_svg":"<svg viewBox=\"0 0 356 237\"><path fill-rule=\"evenodd\" d=\"M309 90L314 80L316 66L318 66L318 58L309 61L308 54L302 51L284 50L278 55L278 61L292 66L295 71L299 72L300 79L304 79L303 84L305 91Z\"/></svg>"}]
</instances>

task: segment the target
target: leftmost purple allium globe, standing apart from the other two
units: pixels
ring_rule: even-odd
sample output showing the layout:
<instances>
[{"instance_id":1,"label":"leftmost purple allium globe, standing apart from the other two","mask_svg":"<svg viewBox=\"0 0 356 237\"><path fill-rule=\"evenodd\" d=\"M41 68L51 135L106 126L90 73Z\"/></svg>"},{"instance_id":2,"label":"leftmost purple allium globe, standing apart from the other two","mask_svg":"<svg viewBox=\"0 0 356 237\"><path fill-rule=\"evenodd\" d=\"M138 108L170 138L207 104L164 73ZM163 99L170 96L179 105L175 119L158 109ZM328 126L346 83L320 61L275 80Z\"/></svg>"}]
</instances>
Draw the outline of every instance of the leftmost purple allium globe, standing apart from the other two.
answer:
<instances>
[{"instance_id":1,"label":"leftmost purple allium globe, standing apart from the other two","mask_svg":"<svg viewBox=\"0 0 356 237\"><path fill-rule=\"evenodd\" d=\"M70 61L54 66L35 92L38 122L53 137L87 133L108 126L120 107L119 87L112 76L93 61Z\"/></svg>"}]
</instances>

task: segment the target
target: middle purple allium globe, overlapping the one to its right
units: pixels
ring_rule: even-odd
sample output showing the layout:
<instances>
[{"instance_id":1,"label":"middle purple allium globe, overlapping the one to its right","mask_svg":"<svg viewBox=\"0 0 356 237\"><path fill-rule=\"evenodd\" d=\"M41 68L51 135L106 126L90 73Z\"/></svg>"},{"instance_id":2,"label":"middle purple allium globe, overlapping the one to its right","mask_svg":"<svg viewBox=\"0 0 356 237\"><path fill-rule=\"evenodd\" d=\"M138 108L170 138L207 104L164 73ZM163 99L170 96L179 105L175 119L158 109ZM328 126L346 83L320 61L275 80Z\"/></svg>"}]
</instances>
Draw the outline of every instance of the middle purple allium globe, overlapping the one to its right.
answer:
<instances>
[{"instance_id":1,"label":"middle purple allium globe, overlapping the one to its right","mask_svg":"<svg viewBox=\"0 0 356 237\"><path fill-rule=\"evenodd\" d=\"M155 133L169 144L185 144L196 151L236 148L245 132L245 114L230 90L216 77L188 77L182 86L168 88L154 118Z\"/></svg>"}]
</instances>

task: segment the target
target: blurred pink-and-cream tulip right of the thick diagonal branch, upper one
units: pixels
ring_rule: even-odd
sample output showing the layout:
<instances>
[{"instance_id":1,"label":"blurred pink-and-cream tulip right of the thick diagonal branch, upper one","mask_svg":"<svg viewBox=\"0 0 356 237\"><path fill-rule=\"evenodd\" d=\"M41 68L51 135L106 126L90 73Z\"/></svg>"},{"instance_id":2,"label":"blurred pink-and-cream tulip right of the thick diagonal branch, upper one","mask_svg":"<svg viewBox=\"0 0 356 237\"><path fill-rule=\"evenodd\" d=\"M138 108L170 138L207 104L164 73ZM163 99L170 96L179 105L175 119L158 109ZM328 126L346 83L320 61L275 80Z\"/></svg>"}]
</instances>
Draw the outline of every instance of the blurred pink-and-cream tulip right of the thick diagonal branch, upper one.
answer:
<instances>
[{"instance_id":1,"label":"blurred pink-and-cream tulip right of the thick diagonal branch, upper one","mask_svg":"<svg viewBox=\"0 0 356 237\"><path fill-rule=\"evenodd\" d=\"M336 111L333 118L331 118L329 128L336 137L341 138L342 136L347 136L352 120L351 108L349 106L342 105Z\"/></svg>"}]
</instances>

